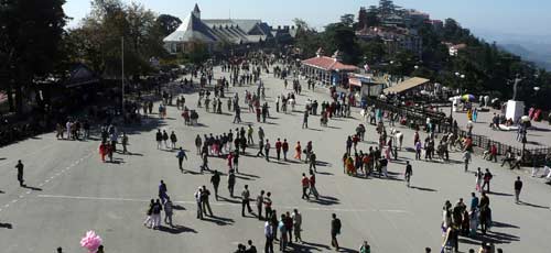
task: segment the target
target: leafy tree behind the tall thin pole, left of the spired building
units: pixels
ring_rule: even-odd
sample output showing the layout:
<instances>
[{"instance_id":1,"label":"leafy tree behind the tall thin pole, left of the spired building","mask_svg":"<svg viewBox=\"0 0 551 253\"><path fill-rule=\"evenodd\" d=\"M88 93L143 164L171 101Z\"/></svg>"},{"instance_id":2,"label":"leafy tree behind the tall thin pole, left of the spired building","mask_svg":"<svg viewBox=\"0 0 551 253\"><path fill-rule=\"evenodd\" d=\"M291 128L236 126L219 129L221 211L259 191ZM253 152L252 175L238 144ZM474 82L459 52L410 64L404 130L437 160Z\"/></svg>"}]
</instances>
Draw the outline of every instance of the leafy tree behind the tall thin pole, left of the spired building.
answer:
<instances>
[{"instance_id":1,"label":"leafy tree behind the tall thin pole, left of the spired building","mask_svg":"<svg viewBox=\"0 0 551 253\"><path fill-rule=\"evenodd\" d=\"M125 41L125 74L139 78L152 69L149 59L166 54L163 28L156 15L141 4L120 0L94 0L90 13L79 28L69 31L69 41L79 48L73 56L108 77L121 73L121 40Z\"/></svg>"}]
</instances>

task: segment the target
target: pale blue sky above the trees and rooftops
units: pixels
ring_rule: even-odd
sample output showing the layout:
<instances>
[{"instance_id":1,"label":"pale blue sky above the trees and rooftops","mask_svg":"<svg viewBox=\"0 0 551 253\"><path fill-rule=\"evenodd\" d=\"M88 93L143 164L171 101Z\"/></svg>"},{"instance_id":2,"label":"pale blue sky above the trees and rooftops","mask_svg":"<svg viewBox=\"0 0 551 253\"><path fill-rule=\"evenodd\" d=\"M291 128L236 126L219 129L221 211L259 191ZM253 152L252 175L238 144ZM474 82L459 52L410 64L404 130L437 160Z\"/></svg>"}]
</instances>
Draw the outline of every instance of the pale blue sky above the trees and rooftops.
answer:
<instances>
[{"instance_id":1,"label":"pale blue sky above the trees and rooftops","mask_svg":"<svg viewBox=\"0 0 551 253\"><path fill-rule=\"evenodd\" d=\"M131 2L129 0L122 0ZM270 25L305 20L318 30L345 13L357 15L360 7L378 0L134 0L156 13L185 18L198 3L203 19L261 19ZM395 4L426 12L431 19L453 18L475 34L500 36L549 35L551 1L548 0L395 0ZM90 0L66 0L65 13L78 22L90 10Z\"/></svg>"}]
</instances>

